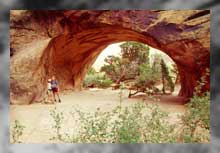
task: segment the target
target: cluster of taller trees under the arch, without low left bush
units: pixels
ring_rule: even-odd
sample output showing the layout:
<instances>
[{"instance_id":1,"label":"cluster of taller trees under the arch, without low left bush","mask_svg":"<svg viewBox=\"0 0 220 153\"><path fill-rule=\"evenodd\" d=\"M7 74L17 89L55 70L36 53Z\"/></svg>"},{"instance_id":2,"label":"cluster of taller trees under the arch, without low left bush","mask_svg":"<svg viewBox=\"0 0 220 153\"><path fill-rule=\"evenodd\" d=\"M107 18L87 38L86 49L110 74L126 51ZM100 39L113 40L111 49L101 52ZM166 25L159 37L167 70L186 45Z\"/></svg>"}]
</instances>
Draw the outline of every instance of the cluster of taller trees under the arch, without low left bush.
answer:
<instances>
[{"instance_id":1,"label":"cluster of taller trees under the arch, without low left bush","mask_svg":"<svg viewBox=\"0 0 220 153\"><path fill-rule=\"evenodd\" d=\"M101 71L112 79L113 82L120 83L126 80L134 80L135 86L145 91L153 89L154 85L163 76L164 93L168 88L174 91L174 83L169 74L168 67L162 58L156 54L152 66L149 62L149 47L138 42L125 42L121 46L121 58L108 56ZM162 74L161 74L162 73Z\"/></svg>"}]
</instances>

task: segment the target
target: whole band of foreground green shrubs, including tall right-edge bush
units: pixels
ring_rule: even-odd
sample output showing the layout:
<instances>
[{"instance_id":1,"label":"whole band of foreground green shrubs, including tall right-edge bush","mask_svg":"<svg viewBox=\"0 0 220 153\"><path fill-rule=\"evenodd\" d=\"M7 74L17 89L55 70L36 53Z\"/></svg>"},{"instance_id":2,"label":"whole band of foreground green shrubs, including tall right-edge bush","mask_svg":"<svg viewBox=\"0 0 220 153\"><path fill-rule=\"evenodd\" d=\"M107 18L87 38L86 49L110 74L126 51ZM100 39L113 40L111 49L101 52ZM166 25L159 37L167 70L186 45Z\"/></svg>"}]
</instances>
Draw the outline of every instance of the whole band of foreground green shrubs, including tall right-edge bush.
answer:
<instances>
[{"instance_id":1,"label":"whole band of foreground green shrubs, including tall right-edge bush","mask_svg":"<svg viewBox=\"0 0 220 153\"><path fill-rule=\"evenodd\" d=\"M120 103L123 101L120 101ZM112 111L93 113L75 108L72 120L78 130L61 132L65 127L64 115L51 110L54 136L51 140L62 143L208 143L210 93L194 95L187 111L179 121L170 123L169 114L158 105L144 101L122 108L120 103Z\"/></svg>"}]
</instances>

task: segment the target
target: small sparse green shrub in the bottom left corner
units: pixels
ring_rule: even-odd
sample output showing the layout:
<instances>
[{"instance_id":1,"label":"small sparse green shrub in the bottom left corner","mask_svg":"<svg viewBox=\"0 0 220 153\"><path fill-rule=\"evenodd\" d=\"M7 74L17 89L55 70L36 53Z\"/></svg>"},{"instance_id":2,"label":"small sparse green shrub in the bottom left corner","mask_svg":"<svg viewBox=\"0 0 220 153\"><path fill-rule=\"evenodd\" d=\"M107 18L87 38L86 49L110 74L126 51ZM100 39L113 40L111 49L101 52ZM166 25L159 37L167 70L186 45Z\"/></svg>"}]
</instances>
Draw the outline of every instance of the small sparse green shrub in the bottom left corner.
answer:
<instances>
[{"instance_id":1,"label":"small sparse green shrub in the bottom left corner","mask_svg":"<svg viewBox=\"0 0 220 153\"><path fill-rule=\"evenodd\" d=\"M12 143L22 143L20 138L23 135L24 128L25 126L23 126L18 120L15 120L11 131Z\"/></svg>"}]
</instances>

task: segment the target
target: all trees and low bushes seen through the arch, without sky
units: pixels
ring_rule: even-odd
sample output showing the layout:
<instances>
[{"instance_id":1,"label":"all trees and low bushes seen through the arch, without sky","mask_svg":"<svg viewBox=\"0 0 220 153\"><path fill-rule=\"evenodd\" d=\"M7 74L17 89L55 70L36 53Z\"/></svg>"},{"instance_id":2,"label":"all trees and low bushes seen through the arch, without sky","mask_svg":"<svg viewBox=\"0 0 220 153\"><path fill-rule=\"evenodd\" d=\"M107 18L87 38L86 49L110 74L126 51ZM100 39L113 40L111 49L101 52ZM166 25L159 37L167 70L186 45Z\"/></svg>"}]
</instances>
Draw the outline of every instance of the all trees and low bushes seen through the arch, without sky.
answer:
<instances>
[{"instance_id":1,"label":"all trees and low bushes seen through the arch, without sky","mask_svg":"<svg viewBox=\"0 0 220 153\"><path fill-rule=\"evenodd\" d=\"M155 54L150 63L150 48L145 44L129 41L122 43L120 47L121 55L107 56L100 72L96 72L94 68L88 71L84 87L112 86L117 89L124 83L131 91L129 97L139 92L165 94L166 91L174 91L174 79L178 76L176 67L169 68L159 54ZM160 83L163 85L162 90L155 86Z\"/></svg>"}]
</instances>

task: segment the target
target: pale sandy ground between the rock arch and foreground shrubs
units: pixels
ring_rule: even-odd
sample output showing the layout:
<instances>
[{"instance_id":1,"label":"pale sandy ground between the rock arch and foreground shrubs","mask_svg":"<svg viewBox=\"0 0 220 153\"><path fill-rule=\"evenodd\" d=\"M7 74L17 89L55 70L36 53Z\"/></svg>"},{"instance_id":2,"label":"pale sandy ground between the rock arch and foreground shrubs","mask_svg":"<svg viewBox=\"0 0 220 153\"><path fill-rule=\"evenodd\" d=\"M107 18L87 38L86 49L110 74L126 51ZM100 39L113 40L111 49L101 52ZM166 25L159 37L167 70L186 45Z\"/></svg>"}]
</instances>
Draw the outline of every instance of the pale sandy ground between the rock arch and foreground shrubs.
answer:
<instances>
[{"instance_id":1,"label":"pale sandy ground between the rock arch and foreground shrubs","mask_svg":"<svg viewBox=\"0 0 220 153\"><path fill-rule=\"evenodd\" d=\"M176 94L176 93L174 93ZM155 103L154 100L146 95L137 95L128 98L128 91L123 91L122 106L129 106L137 102L142 102L143 98L149 104ZM176 122L177 115L185 110L184 105L180 105L180 98L175 96L162 96L159 107L170 113L170 120ZM109 111L119 104L119 90L97 89L83 90L80 92L65 92L61 94L61 103L56 104L32 104L32 105L11 105L10 106L10 125L11 128L15 120L19 120L25 125L24 134L21 141L24 143L53 143L50 138L54 131L51 126L53 120L50 116L50 110L57 108L63 111L65 116L65 131L71 131L74 127L73 122L69 120L70 112L73 107L80 107L87 112L93 112L99 107L102 111Z\"/></svg>"}]
</instances>

